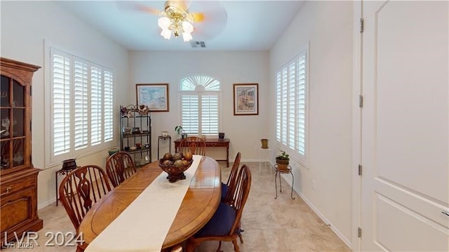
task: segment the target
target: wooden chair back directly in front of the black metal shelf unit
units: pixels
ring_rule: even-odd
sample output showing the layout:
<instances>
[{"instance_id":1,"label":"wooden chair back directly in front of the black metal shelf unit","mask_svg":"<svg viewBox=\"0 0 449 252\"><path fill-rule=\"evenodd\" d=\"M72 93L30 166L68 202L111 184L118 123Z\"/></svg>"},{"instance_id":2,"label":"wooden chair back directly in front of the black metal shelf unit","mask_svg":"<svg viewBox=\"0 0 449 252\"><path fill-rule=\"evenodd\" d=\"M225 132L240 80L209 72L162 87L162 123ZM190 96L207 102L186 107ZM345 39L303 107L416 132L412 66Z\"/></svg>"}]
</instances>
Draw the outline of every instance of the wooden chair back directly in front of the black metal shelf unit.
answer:
<instances>
[{"instance_id":1,"label":"wooden chair back directly in front of the black metal shelf unit","mask_svg":"<svg viewBox=\"0 0 449 252\"><path fill-rule=\"evenodd\" d=\"M116 152L107 158L106 173L114 187L136 172L133 158L126 152Z\"/></svg>"}]
</instances>

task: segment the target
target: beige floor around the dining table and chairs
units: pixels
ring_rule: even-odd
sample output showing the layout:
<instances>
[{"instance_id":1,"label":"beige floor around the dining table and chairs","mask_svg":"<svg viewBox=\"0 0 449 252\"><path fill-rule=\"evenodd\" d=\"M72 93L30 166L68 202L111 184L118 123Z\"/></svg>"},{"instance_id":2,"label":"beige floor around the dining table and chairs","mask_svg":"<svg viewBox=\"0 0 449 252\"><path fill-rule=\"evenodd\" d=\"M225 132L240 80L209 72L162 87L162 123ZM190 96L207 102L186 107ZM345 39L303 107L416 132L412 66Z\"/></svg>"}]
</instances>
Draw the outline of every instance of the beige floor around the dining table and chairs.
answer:
<instances>
[{"instance_id":1,"label":"beige floor around the dining table and chairs","mask_svg":"<svg viewBox=\"0 0 449 252\"><path fill-rule=\"evenodd\" d=\"M243 164L243 163L241 163ZM296 199L290 199L291 187L283 181L283 192L274 199L274 171L267 165L259 169L259 163L246 163L253 175L250 195L243 211L243 244L241 251L351 251L302 199L293 192ZM227 180L232 164L222 166L222 180ZM27 251L76 251L74 246L45 246L51 234L74 232L63 206L51 204L39 211L43 219L43 230L39 231L39 246ZM126 232L126 230L123 230ZM60 240L61 241L61 240ZM132 241L123 241L132 242ZM217 241L203 242L196 252L216 251ZM23 248L3 249L2 252L24 251ZM234 251L231 242L222 244L222 251Z\"/></svg>"}]
</instances>

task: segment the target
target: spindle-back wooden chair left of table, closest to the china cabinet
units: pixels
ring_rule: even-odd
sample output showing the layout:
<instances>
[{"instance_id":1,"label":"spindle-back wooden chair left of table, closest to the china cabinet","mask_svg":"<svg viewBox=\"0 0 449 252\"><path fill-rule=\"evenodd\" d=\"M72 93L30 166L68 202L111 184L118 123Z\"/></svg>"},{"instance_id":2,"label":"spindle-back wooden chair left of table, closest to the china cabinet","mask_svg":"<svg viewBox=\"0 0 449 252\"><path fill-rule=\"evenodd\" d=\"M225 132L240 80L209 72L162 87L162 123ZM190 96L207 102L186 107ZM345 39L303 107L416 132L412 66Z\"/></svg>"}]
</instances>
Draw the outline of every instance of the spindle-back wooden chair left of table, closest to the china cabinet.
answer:
<instances>
[{"instance_id":1,"label":"spindle-back wooden chair left of table, closest to the china cabinet","mask_svg":"<svg viewBox=\"0 0 449 252\"><path fill-rule=\"evenodd\" d=\"M95 165L76 168L62 180L59 187L60 200L76 232L93 204L110 190L105 171Z\"/></svg>"}]
</instances>

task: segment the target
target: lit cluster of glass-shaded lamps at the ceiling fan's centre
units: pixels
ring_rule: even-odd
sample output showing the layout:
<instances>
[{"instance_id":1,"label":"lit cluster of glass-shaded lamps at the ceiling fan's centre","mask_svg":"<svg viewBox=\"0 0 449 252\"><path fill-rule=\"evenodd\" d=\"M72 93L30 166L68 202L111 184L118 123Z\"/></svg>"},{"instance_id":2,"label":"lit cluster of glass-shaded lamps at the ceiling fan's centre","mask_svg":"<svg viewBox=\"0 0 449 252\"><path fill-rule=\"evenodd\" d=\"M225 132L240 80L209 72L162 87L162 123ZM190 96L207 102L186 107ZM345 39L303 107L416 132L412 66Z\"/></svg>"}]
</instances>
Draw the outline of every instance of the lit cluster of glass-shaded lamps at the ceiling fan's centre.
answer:
<instances>
[{"instance_id":1,"label":"lit cluster of glass-shaded lamps at the ceiling fan's centre","mask_svg":"<svg viewBox=\"0 0 449 252\"><path fill-rule=\"evenodd\" d=\"M186 42L192 40L194 17L191 13L176 6L169 6L167 1L165 11L162 11L159 15L161 18L158 19L157 23L162 29L161 36L164 39L170 39L173 32L175 37L182 34L182 38Z\"/></svg>"}]
</instances>

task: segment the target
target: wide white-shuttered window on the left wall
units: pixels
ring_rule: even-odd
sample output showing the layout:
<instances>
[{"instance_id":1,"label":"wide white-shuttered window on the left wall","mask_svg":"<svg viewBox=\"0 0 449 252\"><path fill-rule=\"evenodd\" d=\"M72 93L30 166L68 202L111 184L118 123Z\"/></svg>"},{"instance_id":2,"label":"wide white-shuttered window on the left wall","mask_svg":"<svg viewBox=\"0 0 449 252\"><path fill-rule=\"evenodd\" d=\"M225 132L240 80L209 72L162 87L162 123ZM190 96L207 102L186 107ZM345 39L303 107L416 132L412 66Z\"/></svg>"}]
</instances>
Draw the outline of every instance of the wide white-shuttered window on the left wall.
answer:
<instances>
[{"instance_id":1,"label":"wide white-shuttered window on the left wall","mask_svg":"<svg viewBox=\"0 0 449 252\"><path fill-rule=\"evenodd\" d=\"M55 48L50 53L47 164L54 164L113 144L114 74Z\"/></svg>"}]
</instances>

